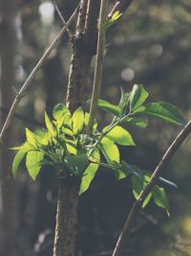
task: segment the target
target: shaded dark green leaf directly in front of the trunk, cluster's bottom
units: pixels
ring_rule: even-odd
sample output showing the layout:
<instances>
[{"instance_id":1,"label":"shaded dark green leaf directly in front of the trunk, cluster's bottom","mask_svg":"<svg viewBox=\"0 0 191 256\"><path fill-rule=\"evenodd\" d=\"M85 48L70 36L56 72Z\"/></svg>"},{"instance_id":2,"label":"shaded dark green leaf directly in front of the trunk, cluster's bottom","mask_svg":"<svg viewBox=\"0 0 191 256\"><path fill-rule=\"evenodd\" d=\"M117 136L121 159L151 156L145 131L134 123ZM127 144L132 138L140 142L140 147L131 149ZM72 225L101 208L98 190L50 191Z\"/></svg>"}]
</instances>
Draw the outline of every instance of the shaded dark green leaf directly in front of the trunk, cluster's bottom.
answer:
<instances>
[{"instance_id":1,"label":"shaded dark green leaf directly in front of the trunk, cluster's bottom","mask_svg":"<svg viewBox=\"0 0 191 256\"><path fill-rule=\"evenodd\" d=\"M85 152L65 156L64 161L72 175L80 176L88 165L88 156Z\"/></svg>"}]
</instances>

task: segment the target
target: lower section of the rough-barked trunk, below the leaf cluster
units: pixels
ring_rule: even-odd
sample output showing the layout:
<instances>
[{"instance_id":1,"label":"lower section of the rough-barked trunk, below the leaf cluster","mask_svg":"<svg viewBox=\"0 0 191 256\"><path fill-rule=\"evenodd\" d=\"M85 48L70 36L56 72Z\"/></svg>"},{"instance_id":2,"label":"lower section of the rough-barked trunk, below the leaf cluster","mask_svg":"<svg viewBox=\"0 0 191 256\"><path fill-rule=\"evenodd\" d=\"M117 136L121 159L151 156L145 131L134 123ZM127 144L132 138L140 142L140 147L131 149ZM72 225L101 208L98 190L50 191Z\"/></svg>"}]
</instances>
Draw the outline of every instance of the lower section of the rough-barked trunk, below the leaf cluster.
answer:
<instances>
[{"instance_id":1,"label":"lower section of the rough-barked trunk, below the leaf cluster","mask_svg":"<svg viewBox=\"0 0 191 256\"><path fill-rule=\"evenodd\" d=\"M60 176L53 256L74 256L79 184L73 176Z\"/></svg>"}]
</instances>

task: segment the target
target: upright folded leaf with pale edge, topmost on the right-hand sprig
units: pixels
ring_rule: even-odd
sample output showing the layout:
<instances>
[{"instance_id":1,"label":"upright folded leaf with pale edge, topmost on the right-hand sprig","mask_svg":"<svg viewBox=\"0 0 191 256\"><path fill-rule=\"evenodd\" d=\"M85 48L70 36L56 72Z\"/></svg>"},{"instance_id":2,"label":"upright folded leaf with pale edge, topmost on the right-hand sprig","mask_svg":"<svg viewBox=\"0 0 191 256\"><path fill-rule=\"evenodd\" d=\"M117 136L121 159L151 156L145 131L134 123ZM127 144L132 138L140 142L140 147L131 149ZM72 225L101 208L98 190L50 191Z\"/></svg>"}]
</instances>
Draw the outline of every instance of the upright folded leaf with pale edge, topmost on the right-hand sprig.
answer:
<instances>
[{"instance_id":1,"label":"upright folded leaf with pale edge, topmost on the right-hand sprig","mask_svg":"<svg viewBox=\"0 0 191 256\"><path fill-rule=\"evenodd\" d=\"M148 97L148 92L142 85L135 84L130 94L130 110L133 111L141 106Z\"/></svg>"}]
</instances>

